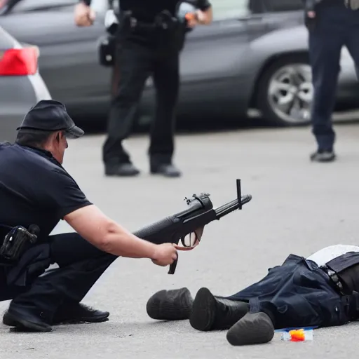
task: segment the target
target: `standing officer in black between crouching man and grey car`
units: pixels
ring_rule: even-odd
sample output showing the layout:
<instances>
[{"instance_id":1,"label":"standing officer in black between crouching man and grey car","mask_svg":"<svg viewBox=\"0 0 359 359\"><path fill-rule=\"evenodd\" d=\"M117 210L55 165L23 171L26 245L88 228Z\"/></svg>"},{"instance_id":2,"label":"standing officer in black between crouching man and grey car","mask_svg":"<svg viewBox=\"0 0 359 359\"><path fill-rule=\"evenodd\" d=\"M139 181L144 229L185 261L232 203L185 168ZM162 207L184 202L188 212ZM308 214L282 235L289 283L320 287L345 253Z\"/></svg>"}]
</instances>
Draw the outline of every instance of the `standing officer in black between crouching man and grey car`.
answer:
<instances>
[{"instance_id":1,"label":"standing officer in black between crouching man and grey car","mask_svg":"<svg viewBox=\"0 0 359 359\"><path fill-rule=\"evenodd\" d=\"M149 147L152 174L179 177L172 164L175 107L179 93L179 52L184 45L185 27L175 20L179 0L119 0L116 34L116 62L120 71L117 93L111 102L108 137L103 147L106 175L133 176L140 173L123 148L133 128L144 84L153 76L156 87L156 116L151 126ZM189 27L208 25L212 7L208 0L189 0L198 11ZM91 0L75 8L78 26L90 26L95 13Z\"/></svg>"}]
</instances>

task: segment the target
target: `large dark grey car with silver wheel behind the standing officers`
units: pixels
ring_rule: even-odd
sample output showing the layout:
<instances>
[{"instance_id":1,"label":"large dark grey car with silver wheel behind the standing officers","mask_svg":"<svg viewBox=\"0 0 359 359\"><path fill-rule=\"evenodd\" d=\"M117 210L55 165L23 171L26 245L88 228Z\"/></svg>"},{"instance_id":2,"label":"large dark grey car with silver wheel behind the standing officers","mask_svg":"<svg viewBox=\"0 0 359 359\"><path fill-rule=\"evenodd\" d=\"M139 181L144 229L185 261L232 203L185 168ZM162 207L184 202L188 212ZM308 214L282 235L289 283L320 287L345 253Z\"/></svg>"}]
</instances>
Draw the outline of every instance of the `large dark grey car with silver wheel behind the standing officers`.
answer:
<instances>
[{"instance_id":1,"label":"large dark grey car with silver wheel behind the standing officers","mask_svg":"<svg viewBox=\"0 0 359 359\"><path fill-rule=\"evenodd\" d=\"M74 24L77 0L3 0L0 25L41 50L41 76L51 95L72 116L104 118L116 84L113 69L98 63L97 41L105 34L111 1L93 0L93 27ZM308 34L302 0L212 0L215 20L197 27L181 55L179 117L196 121L241 118L259 109L269 123L309 122L312 98ZM21 26L19 25L21 24ZM114 74L121 69L114 69ZM346 49L341 57L337 105L357 107L359 83ZM151 79L140 114L154 111Z\"/></svg>"}]
</instances>

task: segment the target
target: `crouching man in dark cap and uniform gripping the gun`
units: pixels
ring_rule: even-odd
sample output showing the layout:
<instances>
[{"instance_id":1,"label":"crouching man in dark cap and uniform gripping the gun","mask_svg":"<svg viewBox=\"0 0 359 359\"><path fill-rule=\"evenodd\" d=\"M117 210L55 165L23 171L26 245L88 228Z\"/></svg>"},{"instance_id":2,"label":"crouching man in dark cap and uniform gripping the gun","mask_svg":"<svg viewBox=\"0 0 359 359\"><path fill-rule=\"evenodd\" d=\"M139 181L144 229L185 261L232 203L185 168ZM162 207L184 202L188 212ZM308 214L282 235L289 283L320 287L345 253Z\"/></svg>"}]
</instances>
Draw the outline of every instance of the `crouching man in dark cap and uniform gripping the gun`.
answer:
<instances>
[{"instance_id":1,"label":"crouching man in dark cap and uniform gripping the gun","mask_svg":"<svg viewBox=\"0 0 359 359\"><path fill-rule=\"evenodd\" d=\"M121 257L172 264L177 247L133 235L104 215L62 167L75 126L60 102L44 100L25 116L15 144L0 144L0 301L3 322L49 332L51 325L102 322L108 312L81 304ZM60 219L76 231L50 236ZM46 271L51 264L59 268Z\"/></svg>"}]
</instances>

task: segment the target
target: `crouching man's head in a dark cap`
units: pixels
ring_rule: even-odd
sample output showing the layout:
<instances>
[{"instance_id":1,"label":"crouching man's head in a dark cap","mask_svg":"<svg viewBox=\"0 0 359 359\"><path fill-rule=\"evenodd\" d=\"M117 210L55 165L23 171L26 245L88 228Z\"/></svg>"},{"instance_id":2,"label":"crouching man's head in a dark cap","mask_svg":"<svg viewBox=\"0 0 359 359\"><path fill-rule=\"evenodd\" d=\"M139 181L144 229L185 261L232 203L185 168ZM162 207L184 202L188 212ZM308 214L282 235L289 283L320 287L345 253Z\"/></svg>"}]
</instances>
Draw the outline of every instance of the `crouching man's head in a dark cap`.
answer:
<instances>
[{"instance_id":1,"label":"crouching man's head in a dark cap","mask_svg":"<svg viewBox=\"0 0 359 359\"><path fill-rule=\"evenodd\" d=\"M65 105L54 100L35 104L17 130L16 143L50 151L60 163L68 147L67 138L79 138L84 134L67 114Z\"/></svg>"}]
</instances>

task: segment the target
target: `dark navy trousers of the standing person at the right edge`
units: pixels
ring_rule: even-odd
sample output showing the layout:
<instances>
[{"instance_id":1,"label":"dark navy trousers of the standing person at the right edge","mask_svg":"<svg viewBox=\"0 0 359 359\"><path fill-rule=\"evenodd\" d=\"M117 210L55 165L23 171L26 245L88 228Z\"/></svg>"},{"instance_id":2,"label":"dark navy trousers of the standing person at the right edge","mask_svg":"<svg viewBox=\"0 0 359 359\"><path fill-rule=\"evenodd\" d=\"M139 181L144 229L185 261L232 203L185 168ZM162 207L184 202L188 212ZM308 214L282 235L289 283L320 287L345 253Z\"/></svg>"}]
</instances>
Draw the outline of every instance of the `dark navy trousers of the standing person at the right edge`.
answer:
<instances>
[{"instance_id":1,"label":"dark navy trousers of the standing person at the right edge","mask_svg":"<svg viewBox=\"0 0 359 359\"><path fill-rule=\"evenodd\" d=\"M341 48L346 46L359 65L359 12L344 1L323 1L316 11L316 22L309 29L309 57L313 74L313 135L318 149L332 150L335 132L332 111L336 102Z\"/></svg>"}]
</instances>

